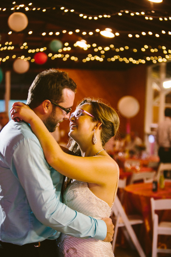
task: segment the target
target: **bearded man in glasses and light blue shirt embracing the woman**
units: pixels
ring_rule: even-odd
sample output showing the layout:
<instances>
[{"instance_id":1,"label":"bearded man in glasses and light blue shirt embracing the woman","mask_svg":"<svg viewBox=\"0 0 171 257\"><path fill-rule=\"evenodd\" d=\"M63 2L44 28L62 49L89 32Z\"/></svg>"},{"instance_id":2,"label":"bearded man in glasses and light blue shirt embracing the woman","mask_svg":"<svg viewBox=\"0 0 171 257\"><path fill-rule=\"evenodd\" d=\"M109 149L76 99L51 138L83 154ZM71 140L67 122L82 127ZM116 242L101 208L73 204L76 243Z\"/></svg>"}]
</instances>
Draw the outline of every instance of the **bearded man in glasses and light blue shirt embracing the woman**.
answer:
<instances>
[{"instance_id":1,"label":"bearded man in glasses and light blue shirt embracing the woman","mask_svg":"<svg viewBox=\"0 0 171 257\"><path fill-rule=\"evenodd\" d=\"M66 72L51 69L37 75L27 104L53 132L69 119L75 92L76 84ZM0 135L0 158L0 240L5 257L57 256L54 239L60 232L112 241L111 219L96 220L61 202L63 176L49 167L29 124L6 125Z\"/></svg>"}]
</instances>

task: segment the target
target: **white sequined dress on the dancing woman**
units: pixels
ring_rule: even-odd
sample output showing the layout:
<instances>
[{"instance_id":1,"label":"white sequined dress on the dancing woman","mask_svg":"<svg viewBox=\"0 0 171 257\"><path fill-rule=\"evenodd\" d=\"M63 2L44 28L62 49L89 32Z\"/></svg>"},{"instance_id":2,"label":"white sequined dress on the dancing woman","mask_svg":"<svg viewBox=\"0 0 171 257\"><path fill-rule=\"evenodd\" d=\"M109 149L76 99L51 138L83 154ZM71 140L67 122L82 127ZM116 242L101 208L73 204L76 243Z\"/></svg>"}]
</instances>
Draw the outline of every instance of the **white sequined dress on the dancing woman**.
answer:
<instances>
[{"instance_id":1,"label":"white sequined dress on the dancing woman","mask_svg":"<svg viewBox=\"0 0 171 257\"><path fill-rule=\"evenodd\" d=\"M78 212L97 219L109 217L111 208L89 190L86 182L74 181L64 191L64 203ZM58 239L59 257L114 257L110 242L81 239L61 234Z\"/></svg>"}]
</instances>

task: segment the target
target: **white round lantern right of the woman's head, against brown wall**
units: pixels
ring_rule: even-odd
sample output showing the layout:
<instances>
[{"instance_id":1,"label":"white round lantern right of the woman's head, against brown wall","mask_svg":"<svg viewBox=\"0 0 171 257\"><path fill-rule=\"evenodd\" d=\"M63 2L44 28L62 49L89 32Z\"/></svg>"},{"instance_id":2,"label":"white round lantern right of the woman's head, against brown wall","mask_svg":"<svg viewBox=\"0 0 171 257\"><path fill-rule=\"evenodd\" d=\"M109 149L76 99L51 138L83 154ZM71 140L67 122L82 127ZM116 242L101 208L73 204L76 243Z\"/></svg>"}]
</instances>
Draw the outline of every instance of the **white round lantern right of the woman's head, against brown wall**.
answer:
<instances>
[{"instance_id":1,"label":"white round lantern right of the woman's head, against brown wall","mask_svg":"<svg viewBox=\"0 0 171 257\"><path fill-rule=\"evenodd\" d=\"M118 102L120 113L126 118L132 118L139 112L139 102L133 96L123 96Z\"/></svg>"}]
</instances>

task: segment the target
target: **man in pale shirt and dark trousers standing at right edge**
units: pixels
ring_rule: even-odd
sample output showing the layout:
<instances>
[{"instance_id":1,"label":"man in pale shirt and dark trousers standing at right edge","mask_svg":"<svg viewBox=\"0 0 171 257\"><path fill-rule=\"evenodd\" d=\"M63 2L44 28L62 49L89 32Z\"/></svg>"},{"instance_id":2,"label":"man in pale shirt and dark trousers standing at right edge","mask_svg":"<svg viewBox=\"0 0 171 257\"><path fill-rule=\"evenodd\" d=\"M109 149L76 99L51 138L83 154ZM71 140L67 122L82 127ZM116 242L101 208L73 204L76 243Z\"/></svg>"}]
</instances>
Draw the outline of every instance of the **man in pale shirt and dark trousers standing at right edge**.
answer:
<instances>
[{"instance_id":1,"label":"man in pale shirt and dark trousers standing at right edge","mask_svg":"<svg viewBox=\"0 0 171 257\"><path fill-rule=\"evenodd\" d=\"M171 162L171 108L165 109L165 120L158 124L156 140L160 162Z\"/></svg>"}]
</instances>

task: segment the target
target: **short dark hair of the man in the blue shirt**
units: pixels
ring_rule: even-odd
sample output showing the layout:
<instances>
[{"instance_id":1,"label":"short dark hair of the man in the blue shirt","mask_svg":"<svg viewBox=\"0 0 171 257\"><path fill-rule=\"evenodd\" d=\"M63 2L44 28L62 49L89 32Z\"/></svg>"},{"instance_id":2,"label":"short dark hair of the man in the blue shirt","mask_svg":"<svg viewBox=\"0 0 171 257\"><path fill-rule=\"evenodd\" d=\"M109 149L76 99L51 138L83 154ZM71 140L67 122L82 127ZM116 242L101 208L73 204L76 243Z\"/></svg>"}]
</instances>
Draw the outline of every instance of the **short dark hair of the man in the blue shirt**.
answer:
<instances>
[{"instance_id":1,"label":"short dark hair of the man in the blue shirt","mask_svg":"<svg viewBox=\"0 0 171 257\"><path fill-rule=\"evenodd\" d=\"M76 83L65 71L56 69L42 71L36 76L29 88L27 104L33 109L46 99L55 103L63 102L63 89L68 88L75 93L76 87Z\"/></svg>"}]
</instances>

